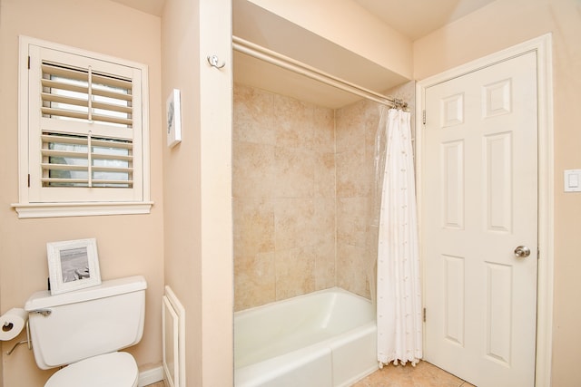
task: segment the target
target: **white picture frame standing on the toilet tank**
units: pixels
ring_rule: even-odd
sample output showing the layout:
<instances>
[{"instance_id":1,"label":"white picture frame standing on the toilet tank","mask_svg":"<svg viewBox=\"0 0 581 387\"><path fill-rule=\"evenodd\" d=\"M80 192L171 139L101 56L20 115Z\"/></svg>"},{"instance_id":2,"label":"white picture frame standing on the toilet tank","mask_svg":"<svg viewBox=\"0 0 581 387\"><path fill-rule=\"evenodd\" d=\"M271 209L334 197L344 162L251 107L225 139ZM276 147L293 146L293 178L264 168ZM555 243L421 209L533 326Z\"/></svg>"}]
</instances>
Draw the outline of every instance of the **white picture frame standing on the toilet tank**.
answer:
<instances>
[{"instance_id":1,"label":"white picture frame standing on the toilet tank","mask_svg":"<svg viewBox=\"0 0 581 387\"><path fill-rule=\"evenodd\" d=\"M51 295L101 285L95 238L46 244Z\"/></svg>"}]
</instances>

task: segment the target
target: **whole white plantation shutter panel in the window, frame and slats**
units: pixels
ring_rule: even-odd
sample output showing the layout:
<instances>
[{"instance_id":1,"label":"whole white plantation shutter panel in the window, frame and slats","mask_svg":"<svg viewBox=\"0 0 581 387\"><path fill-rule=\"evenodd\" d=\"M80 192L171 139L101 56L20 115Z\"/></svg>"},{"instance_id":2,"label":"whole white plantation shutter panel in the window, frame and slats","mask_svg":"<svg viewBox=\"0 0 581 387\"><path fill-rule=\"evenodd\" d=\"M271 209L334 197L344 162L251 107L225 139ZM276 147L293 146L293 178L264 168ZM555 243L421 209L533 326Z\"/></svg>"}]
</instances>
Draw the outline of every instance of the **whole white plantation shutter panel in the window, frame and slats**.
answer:
<instances>
[{"instance_id":1,"label":"whole white plantation shutter panel in the window, frame and slats","mask_svg":"<svg viewBox=\"0 0 581 387\"><path fill-rule=\"evenodd\" d=\"M122 64L31 49L29 124L31 139L37 139L30 145L33 198L142 198L139 78L139 71Z\"/></svg>"}]
</instances>

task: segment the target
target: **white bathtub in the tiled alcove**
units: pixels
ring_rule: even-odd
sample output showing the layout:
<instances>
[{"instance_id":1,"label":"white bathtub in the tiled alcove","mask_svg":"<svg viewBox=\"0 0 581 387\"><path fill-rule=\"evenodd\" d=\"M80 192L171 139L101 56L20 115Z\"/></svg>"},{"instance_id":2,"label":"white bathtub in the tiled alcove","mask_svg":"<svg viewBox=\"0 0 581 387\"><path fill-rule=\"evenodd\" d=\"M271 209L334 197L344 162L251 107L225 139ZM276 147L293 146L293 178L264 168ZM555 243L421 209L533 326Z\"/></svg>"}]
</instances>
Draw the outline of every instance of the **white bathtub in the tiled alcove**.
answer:
<instances>
[{"instance_id":1,"label":"white bathtub in the tiled alcove","mask_svg":"<svg viewBox=\"0 0 581 387\"><path fill-rule=\"evenodd\" d=\"M340 288L234 314L236 387L350 386L378 369L375 309Z\"/></svg>"}]
</instances>

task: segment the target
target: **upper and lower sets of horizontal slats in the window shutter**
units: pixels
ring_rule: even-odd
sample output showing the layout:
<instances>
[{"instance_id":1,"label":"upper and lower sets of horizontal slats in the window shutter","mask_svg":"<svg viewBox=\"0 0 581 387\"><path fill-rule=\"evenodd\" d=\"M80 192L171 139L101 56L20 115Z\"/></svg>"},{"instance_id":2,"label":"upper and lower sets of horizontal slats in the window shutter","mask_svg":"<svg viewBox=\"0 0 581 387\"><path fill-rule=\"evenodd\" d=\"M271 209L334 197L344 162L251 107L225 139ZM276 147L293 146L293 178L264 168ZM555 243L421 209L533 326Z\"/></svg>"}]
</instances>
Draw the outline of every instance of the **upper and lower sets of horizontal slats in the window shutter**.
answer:
<instances>
[{"instance_id":1,"label":"upper and lower sets of horizontal slats in the window shutter","mask_svg":"<svg viewBox=\"0 0 581 387\"><path fill-rule=\"evenodd\" d=\"M133 127L131 80L43 62L41 84L43 118ZM133 186L133 138L93 136L42 132L44 187Z\"/></svg>"}]
</instances>

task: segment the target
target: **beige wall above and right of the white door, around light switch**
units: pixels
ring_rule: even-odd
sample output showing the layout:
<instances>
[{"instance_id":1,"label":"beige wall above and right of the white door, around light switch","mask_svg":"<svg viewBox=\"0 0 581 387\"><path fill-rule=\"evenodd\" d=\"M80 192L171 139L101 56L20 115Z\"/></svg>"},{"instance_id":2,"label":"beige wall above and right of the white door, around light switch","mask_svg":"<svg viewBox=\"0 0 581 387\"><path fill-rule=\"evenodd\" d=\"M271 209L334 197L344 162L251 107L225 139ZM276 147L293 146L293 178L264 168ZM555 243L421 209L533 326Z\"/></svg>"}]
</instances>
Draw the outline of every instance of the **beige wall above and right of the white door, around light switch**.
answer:
<instances>
[{"instance_id":1,"label":"beige wall above and right of the white door, around light switch","mask_svg":"<svg viewBox=\"0 0 581 387\"><path fill-rule=\"evenodd\" d=\"M581 2L498 0L415 42L414 73L421 80L547 33L553 34L555 100L552 385L568 387L581 380L581 194L563 192L563 170L581 168Z\"/></svg>"}]
</instances>

